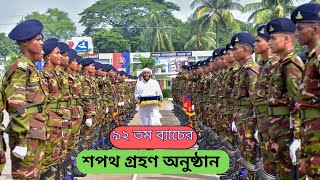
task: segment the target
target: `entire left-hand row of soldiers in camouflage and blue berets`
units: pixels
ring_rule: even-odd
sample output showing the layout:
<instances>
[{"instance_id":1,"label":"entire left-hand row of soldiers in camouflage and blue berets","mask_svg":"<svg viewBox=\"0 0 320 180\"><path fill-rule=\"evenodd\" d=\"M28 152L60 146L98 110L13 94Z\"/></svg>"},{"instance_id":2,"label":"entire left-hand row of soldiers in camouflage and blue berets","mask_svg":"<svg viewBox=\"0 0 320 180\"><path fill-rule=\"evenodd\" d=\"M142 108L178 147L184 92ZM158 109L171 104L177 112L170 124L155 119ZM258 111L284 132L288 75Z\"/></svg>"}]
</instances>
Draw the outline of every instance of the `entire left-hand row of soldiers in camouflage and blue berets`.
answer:
<instances>
[{"instance_id":1,"label":"entire left-hand row of soldiers in camouflage and blue berets","mask_svg":"<svg viewBox=\"0 0 320 180\"><path fill-rule=\"evenodd\" d=\"M72 172L83 176L73 163L80 147L110 149L109 132L133 117L137 77L83 59L58 39L43 42L42 30L32 19L8 35L21 54L2 80L1 111L10 122L1 134L9 134L13 179L72 179Z\"/></svg>"}]
</instances>

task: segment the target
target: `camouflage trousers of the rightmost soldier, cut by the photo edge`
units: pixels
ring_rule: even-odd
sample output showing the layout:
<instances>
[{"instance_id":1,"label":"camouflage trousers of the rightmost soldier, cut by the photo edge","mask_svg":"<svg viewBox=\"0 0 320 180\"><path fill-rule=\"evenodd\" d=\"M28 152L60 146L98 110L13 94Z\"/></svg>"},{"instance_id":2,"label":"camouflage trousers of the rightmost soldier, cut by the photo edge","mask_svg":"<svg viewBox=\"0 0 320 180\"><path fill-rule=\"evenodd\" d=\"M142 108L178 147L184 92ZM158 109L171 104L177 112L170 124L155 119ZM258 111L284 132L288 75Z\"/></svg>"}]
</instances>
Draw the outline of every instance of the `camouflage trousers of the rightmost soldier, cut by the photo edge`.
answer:
<instances>
[{"instance_id":1,"label":"camouflage trousers of the rightmost soldier, cut by the photo edge","mask_svg":"<svg viewBox=\"0 0 320 180\"><path fill-rule=\"evenodd\" d=\"M304 119L300 130L301 160L300 172L309 179L320 179L320 118Z\"/></svg>"}]
</instances>

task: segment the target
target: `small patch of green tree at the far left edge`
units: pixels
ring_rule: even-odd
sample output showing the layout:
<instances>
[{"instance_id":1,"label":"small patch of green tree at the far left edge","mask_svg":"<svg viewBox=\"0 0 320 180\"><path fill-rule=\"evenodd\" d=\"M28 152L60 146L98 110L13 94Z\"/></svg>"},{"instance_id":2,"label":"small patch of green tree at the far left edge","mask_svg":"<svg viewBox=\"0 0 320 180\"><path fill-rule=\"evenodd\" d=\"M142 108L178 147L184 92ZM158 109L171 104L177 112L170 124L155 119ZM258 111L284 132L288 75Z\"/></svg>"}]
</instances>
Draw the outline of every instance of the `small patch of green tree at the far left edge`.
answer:
<instances>
[{"instance_id":1,"label":"small patch of green tree at the far left edge","mask_svg":"<svg viewBox=\"0 0 320 180\"><path fill-rule=\"evenodd\" d=\"M19 47L14 41L9 39L5 33L0 33L0 56L8 56L9 54L18 54Z\"/></svg>"}]
</instances>

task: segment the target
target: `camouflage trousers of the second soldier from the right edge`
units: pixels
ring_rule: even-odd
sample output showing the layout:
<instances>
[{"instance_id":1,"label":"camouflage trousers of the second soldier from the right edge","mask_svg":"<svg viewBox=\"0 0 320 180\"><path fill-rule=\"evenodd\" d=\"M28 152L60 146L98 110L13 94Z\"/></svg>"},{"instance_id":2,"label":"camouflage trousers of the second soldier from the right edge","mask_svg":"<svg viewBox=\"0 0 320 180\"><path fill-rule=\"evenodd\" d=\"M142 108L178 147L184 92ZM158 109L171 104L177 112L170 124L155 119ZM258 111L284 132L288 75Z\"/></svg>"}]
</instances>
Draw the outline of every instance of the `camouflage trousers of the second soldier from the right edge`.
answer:
<instances>
[{"instance_id":1,"label":"camouflage trousers of the second soldier from the right edge","mask_svg":"<svg viewBox=\"0 0 320 180\"><path fill-rule=\"evenodd\" d=\"M289 155L289 116L272 116L269 119L271 152L275 157L280 179L290 179L291 158Z\"/></svg>"}]
</instances>

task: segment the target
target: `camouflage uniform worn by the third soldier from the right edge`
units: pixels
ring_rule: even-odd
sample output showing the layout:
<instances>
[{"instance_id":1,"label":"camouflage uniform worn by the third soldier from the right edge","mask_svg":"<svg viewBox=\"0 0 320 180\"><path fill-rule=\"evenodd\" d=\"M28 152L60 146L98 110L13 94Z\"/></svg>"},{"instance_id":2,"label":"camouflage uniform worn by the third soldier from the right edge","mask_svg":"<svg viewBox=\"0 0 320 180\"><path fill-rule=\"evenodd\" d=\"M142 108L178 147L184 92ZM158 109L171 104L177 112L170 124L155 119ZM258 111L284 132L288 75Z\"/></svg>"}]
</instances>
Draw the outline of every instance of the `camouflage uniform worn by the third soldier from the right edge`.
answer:
<instances>
[{"instance_id":1,"label":"camouflage uniform worn by the third soldier from the right edge","mask_svg":"<svg viewBox=\"0 0 320 180\"><path fill-rule=\"evenodd\" d=\"M257 116L257 129L259 132L259 145L262 155L262 167L269 174L275 174L274 157L270 151L270 135L268 131L268 89L270 77L278 64L277 56L270 56L267 60L261 61L257 84L254 91L254 105Z\"/></svg>"}]
</instances>

